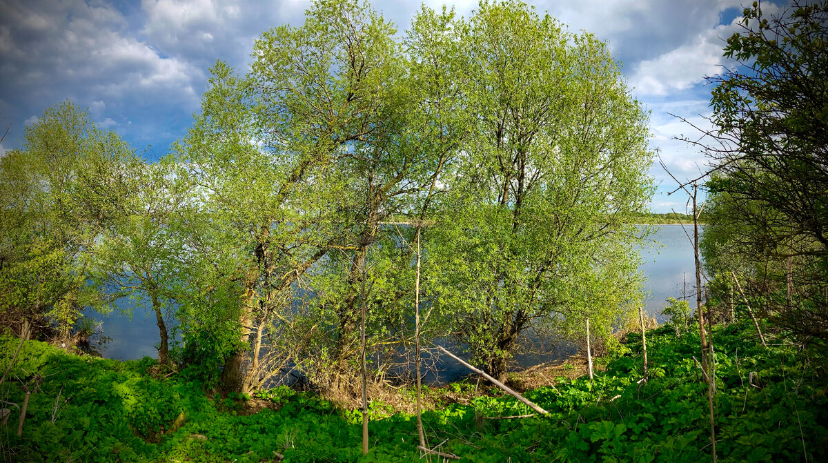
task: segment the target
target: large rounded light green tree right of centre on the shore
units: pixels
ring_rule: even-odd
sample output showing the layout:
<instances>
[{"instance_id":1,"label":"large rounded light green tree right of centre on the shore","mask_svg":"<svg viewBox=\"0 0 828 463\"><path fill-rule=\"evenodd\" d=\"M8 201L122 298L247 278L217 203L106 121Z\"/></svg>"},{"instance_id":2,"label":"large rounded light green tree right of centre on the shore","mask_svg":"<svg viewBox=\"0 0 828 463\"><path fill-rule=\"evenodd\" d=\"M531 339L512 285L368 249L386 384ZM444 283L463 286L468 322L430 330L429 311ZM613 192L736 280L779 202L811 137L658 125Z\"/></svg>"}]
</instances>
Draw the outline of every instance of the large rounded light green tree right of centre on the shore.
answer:
<instances>
[{"instance_id":1,"label":"large rounded light green tree right of centre on the shore","mask_svg":"<svg viewBox=\"0 0 828 463\"><path fill-rule=\"evenodd\" d=\"M427 282L503 381L528 328L583 338L590 317L605 338L633 308L630 218L652 194L652 153L646 114L595 37L503 2L482 3L463 40L476 122L429 234Z\"/></svg>"}]
</instances>

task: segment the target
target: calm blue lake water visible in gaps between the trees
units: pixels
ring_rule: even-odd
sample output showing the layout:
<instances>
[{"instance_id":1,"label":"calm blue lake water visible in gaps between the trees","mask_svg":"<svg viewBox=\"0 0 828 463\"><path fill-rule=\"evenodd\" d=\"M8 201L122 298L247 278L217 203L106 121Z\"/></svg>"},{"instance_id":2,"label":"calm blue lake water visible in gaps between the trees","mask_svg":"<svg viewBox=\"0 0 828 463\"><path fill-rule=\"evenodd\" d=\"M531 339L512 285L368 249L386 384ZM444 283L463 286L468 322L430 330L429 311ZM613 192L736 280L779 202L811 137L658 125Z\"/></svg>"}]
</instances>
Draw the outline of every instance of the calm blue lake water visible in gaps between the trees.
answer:
<instances>
[{"instance_id":1,"label":"calm blue lake water visible in gaps between the trees","mask_svg":"<svg viewBox=\"0 0 828 463\"><path fill-rule=\"evenodd\" d=\"M692 237L692 227L687 227L687 233ZM647 277L644 285L644 292L649 292L646 299L647 314L661 321L659 315L667 305L667 297L681 297L683 278L686 277L687 291L692 292L691 287L695 282L693 245L681 225L662 225L651 239L655 244L642 249L643 264L640 269ZM132 317L124 315L122 311L113 311L108 316L94 316L103 322L104 335L111 338L99 349L104 357L126 360L157 356L155 346L158 343L158 326L155 314L135 305L129 299L118 301L122 311L133 309ZM167 328L171 328L171 323L167 323ZM561 358L570 353L570 349L561 345L546 346L546 352L549 354L540 357L519 356L516 360L523 365L537 364ZM464 367L456 365L454 360L445 359L443 364L445 367L440 371L441 380L450 380L466 373Z\"/></svg>"}]
</instances>

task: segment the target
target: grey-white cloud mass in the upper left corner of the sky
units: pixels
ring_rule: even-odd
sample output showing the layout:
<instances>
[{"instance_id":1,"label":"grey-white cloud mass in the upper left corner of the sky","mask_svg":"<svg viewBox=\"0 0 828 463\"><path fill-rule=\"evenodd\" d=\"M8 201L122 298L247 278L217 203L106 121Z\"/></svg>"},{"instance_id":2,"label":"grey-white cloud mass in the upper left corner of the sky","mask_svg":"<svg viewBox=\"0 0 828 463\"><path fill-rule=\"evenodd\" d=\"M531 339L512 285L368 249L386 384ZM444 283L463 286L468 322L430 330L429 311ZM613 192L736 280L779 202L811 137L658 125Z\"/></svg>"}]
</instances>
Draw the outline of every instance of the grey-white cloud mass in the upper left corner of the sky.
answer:
<instances>
[{"instance_id":1,"label":"grey-white cloud mass in the upper left corner of the sky","mask_svg":"<svg viewBox=\"0 0 828 463\"><path fill-rule=\"evenodd\" d=\"M204 73L138 40L106 2L5 0L2 12L0 108L12 120L65 99L109 127L135 107L198 107Z\"/></svg>"}]
</instances>

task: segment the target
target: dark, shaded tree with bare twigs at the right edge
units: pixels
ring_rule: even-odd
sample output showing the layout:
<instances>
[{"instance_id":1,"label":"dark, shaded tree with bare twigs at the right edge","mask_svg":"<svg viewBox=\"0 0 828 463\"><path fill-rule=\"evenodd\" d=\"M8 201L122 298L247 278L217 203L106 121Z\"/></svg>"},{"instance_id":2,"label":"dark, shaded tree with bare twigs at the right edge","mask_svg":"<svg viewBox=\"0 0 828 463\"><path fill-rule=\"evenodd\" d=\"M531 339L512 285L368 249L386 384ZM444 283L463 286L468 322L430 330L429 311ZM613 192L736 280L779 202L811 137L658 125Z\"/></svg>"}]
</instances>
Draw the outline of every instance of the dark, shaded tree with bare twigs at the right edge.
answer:
<instances>
[{"instance_id":1,"label":"dark, shaded tree with bare twigs at the right edge","mask_svg":"<svg viewBox=\"0 0 828 463\"><path fill-rule=\"evenodd\" d=\"M710 78L713 205L706 256L743 263L763 312L828 340L828 2L744 10Z\"/></svg>"}]
</instances>

